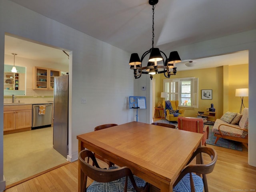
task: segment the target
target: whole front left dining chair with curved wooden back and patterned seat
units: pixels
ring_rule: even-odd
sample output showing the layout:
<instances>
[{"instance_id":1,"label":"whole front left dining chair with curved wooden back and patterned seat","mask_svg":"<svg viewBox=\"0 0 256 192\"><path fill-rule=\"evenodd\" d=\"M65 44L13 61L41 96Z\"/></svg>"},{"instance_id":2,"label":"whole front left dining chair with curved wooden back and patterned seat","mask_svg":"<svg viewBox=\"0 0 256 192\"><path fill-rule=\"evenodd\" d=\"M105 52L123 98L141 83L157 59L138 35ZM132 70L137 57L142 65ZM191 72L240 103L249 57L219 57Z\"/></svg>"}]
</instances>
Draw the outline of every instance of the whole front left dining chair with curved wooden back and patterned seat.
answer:
<instances>
[{"instance_id":1,"label":"whole front left dining chair with curved wooden back and patterned seat","mask_svg":"<svg viewBox=\"0 0 256 192\"><path fill-rule=\"evenodd\" d=\"M90 160L95 166L89 164ZM78 154L78 164L84 173L82 192L148 192L149 184L134 176L128 167L102 169L94 154L85 149ZM86 188L87 178L94 180ZM80 179L80 178L79 178Z\"/></svg>"}]
</instances>

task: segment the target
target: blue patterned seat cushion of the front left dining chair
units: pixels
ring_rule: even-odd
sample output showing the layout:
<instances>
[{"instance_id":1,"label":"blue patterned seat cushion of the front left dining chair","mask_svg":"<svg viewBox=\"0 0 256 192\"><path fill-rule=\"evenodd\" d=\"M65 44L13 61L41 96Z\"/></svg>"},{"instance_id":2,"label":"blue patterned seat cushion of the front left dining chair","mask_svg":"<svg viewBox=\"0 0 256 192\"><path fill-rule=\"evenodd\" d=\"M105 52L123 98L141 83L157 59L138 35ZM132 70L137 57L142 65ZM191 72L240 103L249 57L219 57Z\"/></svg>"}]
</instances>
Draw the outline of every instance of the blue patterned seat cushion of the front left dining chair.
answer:
<instances>
[{"instance_id":1,"label":"blue patterned seat cushion of the front left dining chair","mask_svg":"<svg viewBox=\"0 0 256 192\"><path fill-rule=\"evenodd\" d=\"M109 169L116 169L117 167L110 167ZM134 180L138 187L145 186L146 182L134 175ZM108 182L108 183L100 183L100 182L92 182L90 186L87 188L87 192L123 192L125 184L125 177L122 177L118 180ZM132 182L128 177L127 182L127 192L136 192L136 190L132 186Z\"/></svg>"}]
</instances>

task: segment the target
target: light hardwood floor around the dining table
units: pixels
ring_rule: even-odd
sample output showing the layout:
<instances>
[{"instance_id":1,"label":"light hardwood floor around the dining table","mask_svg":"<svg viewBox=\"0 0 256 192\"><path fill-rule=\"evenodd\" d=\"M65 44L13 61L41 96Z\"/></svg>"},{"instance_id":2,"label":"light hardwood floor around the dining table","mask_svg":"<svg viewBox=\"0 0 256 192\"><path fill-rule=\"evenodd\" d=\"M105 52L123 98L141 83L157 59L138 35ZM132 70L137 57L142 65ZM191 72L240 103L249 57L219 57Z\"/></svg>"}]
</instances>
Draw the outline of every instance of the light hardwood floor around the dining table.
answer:
<instances>
[{"instance_id":1,"label":"light hardwood floor around the dining table","mask_svg":"<svg viewBox=\"0 0 256 192\"><path fill-rule=\"evenodd\" d=\"M237 151L213 145L208 147L214 148L218 154L213 172L207 175L210 192L256 191L256 167L248 165L246 148ZM78 162L66 164L5 190L5 192L37 191L78 191Z\"/></svg>"}]
</instances>

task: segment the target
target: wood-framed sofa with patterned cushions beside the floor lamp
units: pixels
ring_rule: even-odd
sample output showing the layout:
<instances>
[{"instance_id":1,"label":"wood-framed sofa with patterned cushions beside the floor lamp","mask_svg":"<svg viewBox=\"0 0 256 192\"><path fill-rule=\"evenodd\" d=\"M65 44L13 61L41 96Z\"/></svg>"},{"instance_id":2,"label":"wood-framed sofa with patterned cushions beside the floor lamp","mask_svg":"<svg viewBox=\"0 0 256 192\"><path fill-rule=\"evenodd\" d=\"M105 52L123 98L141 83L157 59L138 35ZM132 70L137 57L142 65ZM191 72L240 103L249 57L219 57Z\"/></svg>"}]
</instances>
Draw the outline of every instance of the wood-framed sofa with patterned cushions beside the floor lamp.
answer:
<instances>
[{"instance_id":1,"label":"wood-framed sofa with patterned cushions beside the floor lamp","mask_svg":"<svg viewBox=\"0 0 256 192\"><path fill-rule=\"evenodd\" d=\"M212 132L216 136L214 144L219 138L242 142L248 148L248 117L249 109L244 108L242 114L226 112L220 119L216 119Z\"/></svg>"}]
</instances>

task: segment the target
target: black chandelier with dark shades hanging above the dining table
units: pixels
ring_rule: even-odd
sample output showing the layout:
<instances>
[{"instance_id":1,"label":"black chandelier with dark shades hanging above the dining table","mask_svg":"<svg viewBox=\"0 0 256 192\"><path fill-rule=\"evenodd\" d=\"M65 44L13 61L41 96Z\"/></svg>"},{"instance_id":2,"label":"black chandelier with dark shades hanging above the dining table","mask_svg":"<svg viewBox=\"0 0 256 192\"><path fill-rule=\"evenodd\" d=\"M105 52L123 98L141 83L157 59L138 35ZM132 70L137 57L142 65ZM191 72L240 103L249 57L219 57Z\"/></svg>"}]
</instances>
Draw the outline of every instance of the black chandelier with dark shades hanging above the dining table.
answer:
<instances>
[{"instance_id":1,"label":"black chandelier with dark shades hanging above the dining table","mask_svg":"<svg viewBox=\"0 0 256 192\"><path fill-rule=\"evenodd\" d=\"M163 73L166 78L170 78L171 75L176 75L177 68L175 63L181 62L180 56L177 51L170 52L169 58L166 54L159 50L159 48L154 48L154 9L158 0L149 0L148 3L152 5L152 48L142 54L141 59L139 58L138 53L132 53L130 57L130 69L134 70L135 79L140 78L142 74L150 74L150 79L152 80L154 74ZM146 55L150 53L147 66L142 67L142 61ZM162 57L161 53L164 55ZM162 62L163 63L162 63ZM161 62L158 64L157 62ZM158 70L161 69L161 70ZM170 70L172 69L172 72ZM137 73L138 71L138 73Z\"/></svg>"}]
</instances>

